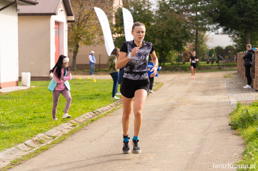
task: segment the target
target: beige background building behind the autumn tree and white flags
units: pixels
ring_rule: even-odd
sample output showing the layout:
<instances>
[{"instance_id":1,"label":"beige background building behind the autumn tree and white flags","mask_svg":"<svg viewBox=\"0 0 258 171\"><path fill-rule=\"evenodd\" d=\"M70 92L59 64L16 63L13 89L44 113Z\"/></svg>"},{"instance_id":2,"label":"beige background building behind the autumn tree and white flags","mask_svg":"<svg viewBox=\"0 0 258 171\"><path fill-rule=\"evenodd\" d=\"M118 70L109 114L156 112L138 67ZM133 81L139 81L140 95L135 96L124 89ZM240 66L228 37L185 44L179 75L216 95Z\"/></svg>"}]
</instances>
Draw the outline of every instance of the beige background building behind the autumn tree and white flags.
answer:
<instances>
[{"instance_id":1,"label":"beige background building behind the autumn tree and white flags","mask_svg":"<svg viewBox=\"0 0 258 171\"><path fill-rule=\"evenodd\" d=\"M123 7L123 0L114 0L113 1L113 18L108 18L109 22L112 21L113 23L115 22L114 16L115 16L115 11L117 8ZM100 23L99 23L100 24ZM113 35L115 36L115 35ZM102 37L103 39L103 37ZM120 48L120 47L118 47ZM79 47L79 52L77 53L76 56L76 69L89 69L89 54L91 51L94 51L95 58L96 58L96 64L95 64L95 69L99 68L107 68L107 60L108 60L108 54L106 52L105 45L96 45L96 46L80 46ZM70 61L72 61L73 58L73 53L68 52L68 57L70 58Z\"/></svg>"}]
</instances>

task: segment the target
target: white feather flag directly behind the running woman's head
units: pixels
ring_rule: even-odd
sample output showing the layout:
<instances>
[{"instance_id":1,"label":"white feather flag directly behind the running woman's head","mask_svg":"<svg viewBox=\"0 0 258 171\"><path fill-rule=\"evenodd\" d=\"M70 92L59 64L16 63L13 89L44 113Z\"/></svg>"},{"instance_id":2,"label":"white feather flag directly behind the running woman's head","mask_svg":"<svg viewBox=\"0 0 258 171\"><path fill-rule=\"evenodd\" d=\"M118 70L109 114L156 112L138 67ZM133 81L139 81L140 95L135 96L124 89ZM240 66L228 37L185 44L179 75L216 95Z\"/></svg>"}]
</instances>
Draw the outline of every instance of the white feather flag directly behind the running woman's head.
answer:
<instances>
[{"instance_id":1,"label":"white feather flag directly behind the running woman's head","mask_svg":"<svg viewBox=\"0 0 258 171\"><path fill-rule=\"evenodd\" d=\"M132 14L129 10L126 8L122 8L123 10L123 20L124 20L124 29L125 29L125 37L126 41L133 40L132 35L132 26L133 26L133 18Z\"/></svg>"}]
</instances>

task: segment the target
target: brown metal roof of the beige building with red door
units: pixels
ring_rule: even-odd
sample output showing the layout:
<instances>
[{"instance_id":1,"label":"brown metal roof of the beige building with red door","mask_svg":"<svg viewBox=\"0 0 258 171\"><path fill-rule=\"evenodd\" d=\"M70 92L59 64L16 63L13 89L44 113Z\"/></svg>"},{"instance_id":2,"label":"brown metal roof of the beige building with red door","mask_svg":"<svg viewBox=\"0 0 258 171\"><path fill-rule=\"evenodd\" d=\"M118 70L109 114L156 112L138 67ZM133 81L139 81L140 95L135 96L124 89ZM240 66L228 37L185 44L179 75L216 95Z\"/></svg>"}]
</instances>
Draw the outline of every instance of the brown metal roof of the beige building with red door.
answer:
<instances>
[{"instance_id":1,"label":"brown metal roof of the beige building with red door","mask_svg":"<svg viewBox=\"0 0 258 171\"><path fill-rule=\"evenodd\" d=\"M28 0L23 0L28 1ZM61 2L64 2L67 16L74 16L70 0L37 0L36 6L19 6L18 16L21 15L57 15Z\"/></svg>"}]
</instances>

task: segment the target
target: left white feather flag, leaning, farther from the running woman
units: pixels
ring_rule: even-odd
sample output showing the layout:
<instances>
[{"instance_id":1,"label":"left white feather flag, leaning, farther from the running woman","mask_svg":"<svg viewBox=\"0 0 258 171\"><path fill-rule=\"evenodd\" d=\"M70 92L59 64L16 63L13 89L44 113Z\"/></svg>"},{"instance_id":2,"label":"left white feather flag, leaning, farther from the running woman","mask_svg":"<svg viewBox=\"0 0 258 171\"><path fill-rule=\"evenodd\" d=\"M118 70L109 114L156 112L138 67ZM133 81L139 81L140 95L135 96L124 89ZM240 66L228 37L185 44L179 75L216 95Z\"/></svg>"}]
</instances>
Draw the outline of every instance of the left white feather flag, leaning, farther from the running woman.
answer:
<instances>
[{"instance_id":1,"label":"left white feather flag, leaning, farther from the running woman","mask_svg":"<svg viewBox=\"0 0 258 171\"><path fill-rule=\"evenodd\" d=\"M100 21L100 25L101 25L103 36L104 36L106 51L107 51L108 55L110 56L111 52L115 48L115 45L114 45L111 30L110 30L108 18L106 16L105 12L103 10L101 10L100 8L94 7L94 10Z\"/></svg>"}]
</instances>

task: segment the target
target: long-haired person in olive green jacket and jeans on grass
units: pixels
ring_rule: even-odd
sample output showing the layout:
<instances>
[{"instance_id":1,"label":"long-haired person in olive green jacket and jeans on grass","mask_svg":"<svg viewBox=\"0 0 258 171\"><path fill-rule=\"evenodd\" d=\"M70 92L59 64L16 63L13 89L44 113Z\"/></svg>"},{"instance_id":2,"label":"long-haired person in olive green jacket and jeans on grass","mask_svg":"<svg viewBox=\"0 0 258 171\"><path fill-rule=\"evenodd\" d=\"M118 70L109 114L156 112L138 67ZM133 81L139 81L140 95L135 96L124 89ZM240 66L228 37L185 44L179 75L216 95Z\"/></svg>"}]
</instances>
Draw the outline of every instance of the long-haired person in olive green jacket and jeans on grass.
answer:
<instances>
[{"instance_id":1,"label":"long-haired person in olive green jacket and jeans on grass","mask_svg":"<svg viewBox=\"0 0 258 171\"><path fill-rule=\"evenodd\" d=\"M116 95L121 95L119 92L117 92L117 87L118 87L118 78L119 78L119 70L116 68L117 64L117 58L119 56L119 48L115 48L112 52L111 55L108 58L107 65L109 67L109 74L112 76L112 79L114 81L113 83L113 90L112 90L112 98L114 99L120 99L119 97L115 96Z\"/></svg>"}]
</instances>

